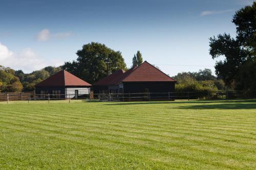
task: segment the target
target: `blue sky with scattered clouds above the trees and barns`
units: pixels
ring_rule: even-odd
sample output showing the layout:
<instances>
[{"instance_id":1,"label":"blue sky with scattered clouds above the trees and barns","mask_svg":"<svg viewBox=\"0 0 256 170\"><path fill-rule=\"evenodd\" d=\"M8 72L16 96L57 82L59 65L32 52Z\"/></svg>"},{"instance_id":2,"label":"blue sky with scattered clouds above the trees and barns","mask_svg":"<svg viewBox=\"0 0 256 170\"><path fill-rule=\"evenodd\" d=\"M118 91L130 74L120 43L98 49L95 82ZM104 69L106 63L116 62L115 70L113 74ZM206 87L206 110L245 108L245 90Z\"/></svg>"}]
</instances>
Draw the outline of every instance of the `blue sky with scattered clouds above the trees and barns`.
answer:
<instances>
[{"instance_id":1,"label":"blue sky with scattered clouds above the trees and barns","mask_svg":"<svg viewBox=\"0 0 256 170\"><path fill-rule=\"evenodd\" d=\"M214 71L208 38L235 36L232 16L253 2L0 1L0 65L25 72L61 65L94 41L120 51L129 67L140 50L144 60L171 76Z\"/></svg>"}]
</instances>

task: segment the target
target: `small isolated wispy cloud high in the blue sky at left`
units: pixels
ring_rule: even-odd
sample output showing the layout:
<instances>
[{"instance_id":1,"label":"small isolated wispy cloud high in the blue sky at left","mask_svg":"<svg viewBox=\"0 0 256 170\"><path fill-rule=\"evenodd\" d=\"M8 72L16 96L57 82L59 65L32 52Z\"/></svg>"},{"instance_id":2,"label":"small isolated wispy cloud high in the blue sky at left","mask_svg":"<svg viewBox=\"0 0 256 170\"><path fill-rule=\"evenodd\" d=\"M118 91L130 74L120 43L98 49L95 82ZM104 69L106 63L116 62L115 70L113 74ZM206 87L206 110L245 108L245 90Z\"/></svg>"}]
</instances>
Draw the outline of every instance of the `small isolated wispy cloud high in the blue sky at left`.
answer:
<instances>
[{"instance_id":1,"label":"small isolated wispy cloud high in the blue sky at left","mask_svg":"<svg viewBox=\"0 0 256 170\"><path fill-rule=\"evenodd\" d=\"M51 38L67 38L71 35L72 35L71 32L62 32L62 33L52 34L50 33L49 29L44 29L36 35L36 39L38 41L48 41Z\"/></svg>"}]
</instances>

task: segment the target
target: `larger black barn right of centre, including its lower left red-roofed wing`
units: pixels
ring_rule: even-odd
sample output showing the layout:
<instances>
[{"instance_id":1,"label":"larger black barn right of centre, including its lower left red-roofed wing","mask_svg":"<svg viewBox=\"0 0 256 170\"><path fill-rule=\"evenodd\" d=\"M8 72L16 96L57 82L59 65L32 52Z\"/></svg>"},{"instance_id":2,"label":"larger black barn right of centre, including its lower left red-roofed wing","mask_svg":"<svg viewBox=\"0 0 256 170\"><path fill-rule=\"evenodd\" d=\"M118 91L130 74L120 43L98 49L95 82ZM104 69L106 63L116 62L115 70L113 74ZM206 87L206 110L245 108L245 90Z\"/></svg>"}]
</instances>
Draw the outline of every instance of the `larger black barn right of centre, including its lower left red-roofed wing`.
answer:
<instances>
[{"instance_id":1,"label":"larger black barn right of centre, including its lower left red-roofed wing","mask_svg":"<svg viewBox=\"0 0 256 170\"><path fill-rule=\"evenodd\" d=\"M174 92L176 80L144 61L127 71L117 70L93 84L94 93L168 93Z\"/></svg>"}]
</instances>

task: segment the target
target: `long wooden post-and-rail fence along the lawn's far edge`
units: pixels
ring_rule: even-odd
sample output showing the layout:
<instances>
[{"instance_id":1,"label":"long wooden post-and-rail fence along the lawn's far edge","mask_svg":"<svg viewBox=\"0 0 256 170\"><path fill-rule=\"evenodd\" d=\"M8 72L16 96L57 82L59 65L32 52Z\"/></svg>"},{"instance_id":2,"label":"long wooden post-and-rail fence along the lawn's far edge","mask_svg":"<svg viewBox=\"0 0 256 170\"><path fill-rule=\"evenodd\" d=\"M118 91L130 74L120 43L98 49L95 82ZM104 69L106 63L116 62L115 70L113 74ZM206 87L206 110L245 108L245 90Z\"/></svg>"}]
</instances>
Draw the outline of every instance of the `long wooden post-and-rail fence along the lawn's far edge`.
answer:
<instances>
[{"instance_id":1,"label":"long wooden post-and-rail fence along the lawn's far edge","mask_svg":"<svg viewBox=\"0 0 256 170\"><path fill-rule=\"evenodd\" d=\"M255 98L256 92L246 91L176 91L145 93L100 93L100 94L34 94L34 93L0 93L0 101L52 101L52 100L99 100L99 101L173 101L173 100L212 100L212 99L249 99Z\"/></svg>"}]
</instances>

